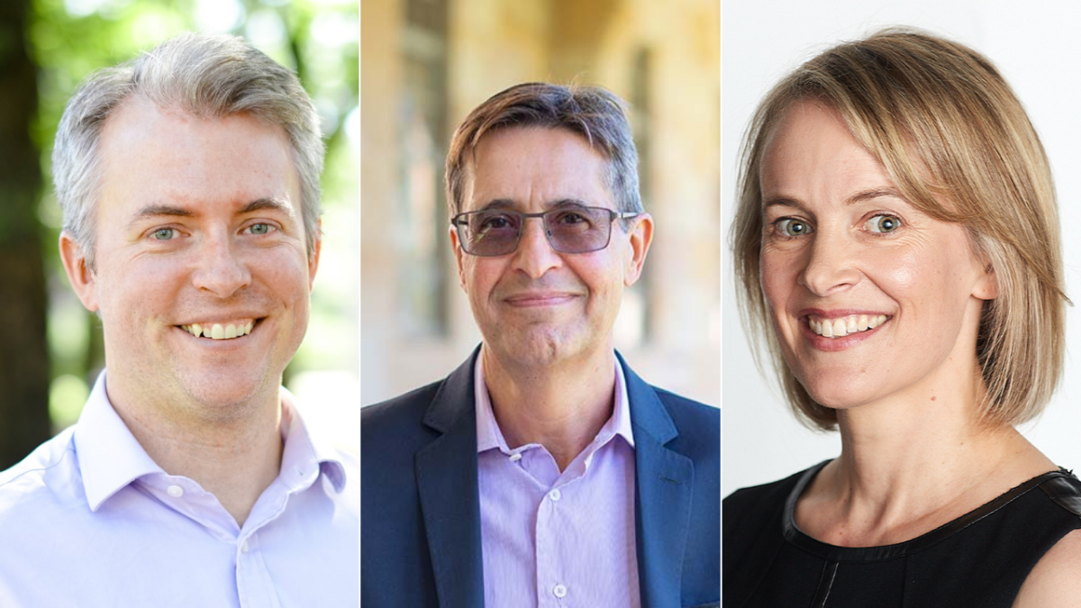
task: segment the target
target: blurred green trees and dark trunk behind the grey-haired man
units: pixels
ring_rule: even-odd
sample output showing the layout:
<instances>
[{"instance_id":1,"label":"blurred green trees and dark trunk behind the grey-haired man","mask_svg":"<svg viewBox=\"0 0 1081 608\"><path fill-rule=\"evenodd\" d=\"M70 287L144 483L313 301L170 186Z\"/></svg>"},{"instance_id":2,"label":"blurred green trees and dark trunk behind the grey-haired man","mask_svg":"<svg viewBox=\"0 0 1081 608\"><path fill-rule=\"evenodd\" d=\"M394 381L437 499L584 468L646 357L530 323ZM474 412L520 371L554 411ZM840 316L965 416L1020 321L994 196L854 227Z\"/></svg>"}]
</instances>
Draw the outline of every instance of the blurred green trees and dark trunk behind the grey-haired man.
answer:
<instances>
[{"instance_id":1,"label":"blurred green trees and dark trunk behind the grey-haired man","mask_svg":"<svg viewBox=\"0 0 1081 608\"><path fill-rule=\"evenodd\" d=\"M356 0L3 0L0 3L0 470L74 423L104 366L101 323L67 285L50 154L93 70L185 30L244 36L295 69L322 118L323 250L308 334L285 373L306 417L359 452L360 119Z\"/></svg>"}]
</instances>

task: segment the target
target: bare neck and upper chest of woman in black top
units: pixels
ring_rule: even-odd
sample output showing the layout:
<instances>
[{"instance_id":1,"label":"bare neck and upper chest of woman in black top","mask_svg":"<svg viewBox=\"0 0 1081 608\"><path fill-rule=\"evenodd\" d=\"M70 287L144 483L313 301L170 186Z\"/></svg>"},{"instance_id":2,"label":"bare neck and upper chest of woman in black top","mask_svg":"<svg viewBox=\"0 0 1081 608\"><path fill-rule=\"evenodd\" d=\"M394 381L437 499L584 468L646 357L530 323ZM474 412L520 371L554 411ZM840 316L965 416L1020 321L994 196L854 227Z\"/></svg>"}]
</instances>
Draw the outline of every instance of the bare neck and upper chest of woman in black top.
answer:
<instances>
[{"instance_id":1,"label":"bare neck and upper chest of woman in black top","mask_svg":"<svg viewBox=\"0 0 1081 608\"><path fill-rule=\"evenodd\" d=\"M840 410L841 457L801 497L800 526L832 544L903 542L1053 470L1012 426L979 422L983 383L978 371L970 378L944 383L933 399Z\"/></svg>"}]
</instances>

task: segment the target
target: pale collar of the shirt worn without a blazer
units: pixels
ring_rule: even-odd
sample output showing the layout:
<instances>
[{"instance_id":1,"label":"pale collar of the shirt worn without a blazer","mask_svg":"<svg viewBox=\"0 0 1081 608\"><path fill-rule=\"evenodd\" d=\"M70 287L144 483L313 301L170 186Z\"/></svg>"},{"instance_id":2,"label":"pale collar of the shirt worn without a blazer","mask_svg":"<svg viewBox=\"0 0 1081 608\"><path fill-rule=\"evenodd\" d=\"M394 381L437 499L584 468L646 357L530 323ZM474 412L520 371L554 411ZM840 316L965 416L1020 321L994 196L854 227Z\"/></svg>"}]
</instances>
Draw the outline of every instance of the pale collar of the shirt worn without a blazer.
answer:
<instances>
[{"instance_id":1,"label":"pale collar of the shirt worn without a blazer","mask_svg":"<svg viewBox=\"0 0 1081 608\"><path fill-rule=\"evenodd\" d=\"M105 371L97 376L75 429L82 483L90 510L144 475L165 475L146 453L124 421L120 419L106 393ZM281 471L304 471L318 463L336 492L345 487L345 465L333 444L308 429L296 407L296 398L281 389L282 448ZM280 473L279 473L279 476ZM284 476L289 478L289 476Z\"/></svg>"}]
</instances>

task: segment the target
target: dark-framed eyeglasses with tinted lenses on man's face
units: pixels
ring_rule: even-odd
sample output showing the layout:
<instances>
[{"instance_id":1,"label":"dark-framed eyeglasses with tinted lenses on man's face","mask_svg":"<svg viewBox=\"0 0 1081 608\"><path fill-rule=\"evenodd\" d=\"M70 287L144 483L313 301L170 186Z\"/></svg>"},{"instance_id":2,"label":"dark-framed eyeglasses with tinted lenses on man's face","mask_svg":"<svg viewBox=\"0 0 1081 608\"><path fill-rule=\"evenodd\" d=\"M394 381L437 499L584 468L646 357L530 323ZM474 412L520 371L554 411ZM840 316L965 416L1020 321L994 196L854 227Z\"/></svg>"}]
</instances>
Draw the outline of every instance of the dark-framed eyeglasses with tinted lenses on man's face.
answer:
<instances>
[{"instance_id":1,"label":"dark-framed eyeglasses with tinted lenses on man's face","mask_svg":"<svg viewBox=\"0 0 1081 608\"><path fill-rule=\"evenodd\" d=\"M560 253L589 253L608 247L612 223L640 213L617 212L603 207L559 207L544 213L522 213L510 209L485 209L458 213L451 224L458 232L462 249L470 255L495 256L513 253L522 240L525 220L539 217L548 244Z\"/></svg>"}]
</instances>

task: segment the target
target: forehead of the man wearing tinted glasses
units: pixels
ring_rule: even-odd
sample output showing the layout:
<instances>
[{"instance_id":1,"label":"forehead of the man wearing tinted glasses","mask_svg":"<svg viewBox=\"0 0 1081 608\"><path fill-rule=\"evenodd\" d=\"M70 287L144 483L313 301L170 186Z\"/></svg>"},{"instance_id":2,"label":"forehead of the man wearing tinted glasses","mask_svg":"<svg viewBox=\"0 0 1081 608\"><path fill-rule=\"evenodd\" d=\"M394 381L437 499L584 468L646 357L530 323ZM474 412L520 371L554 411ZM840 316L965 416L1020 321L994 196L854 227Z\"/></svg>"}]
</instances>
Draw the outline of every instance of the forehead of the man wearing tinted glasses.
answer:
<instances>
[{"instance_id":1,"label":"forehead of the man wearing tinted glasses","mask_svg":"<svg viewBox=\"0 0 1081 608\"><path fill-rule=\"evenodd\" d=\"M466 210L495 199L531 207L560 199L612 207L608 161L560 128L509 128L485 135L467 167Z\"/></svg>"}]
</instances>

